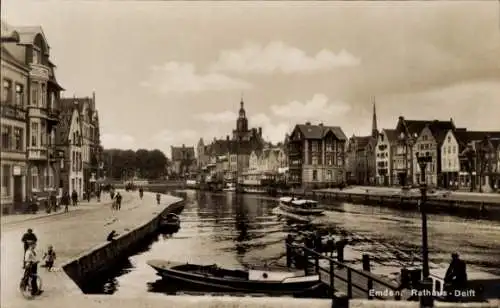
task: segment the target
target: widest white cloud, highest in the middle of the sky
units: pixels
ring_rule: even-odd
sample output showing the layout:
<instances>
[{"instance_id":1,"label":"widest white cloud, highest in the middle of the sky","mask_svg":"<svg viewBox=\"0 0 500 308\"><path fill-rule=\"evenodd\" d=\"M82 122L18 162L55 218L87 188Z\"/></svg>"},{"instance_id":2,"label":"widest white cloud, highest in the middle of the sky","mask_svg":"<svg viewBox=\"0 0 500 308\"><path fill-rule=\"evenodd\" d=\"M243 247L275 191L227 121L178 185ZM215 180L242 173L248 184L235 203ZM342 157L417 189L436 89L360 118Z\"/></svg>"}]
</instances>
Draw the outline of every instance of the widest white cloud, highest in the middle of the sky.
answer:
<instances>
[{"instance_id":1,"label":"widest white cloud, highest in the middle of the sky","mask_svg":"<svg viewBox=\"0 0 500 308\"><path fill-rule=\"evenodd\" d=\"M277 41L267 46L247 43L240 49L223 50L217 62L211 65L211 70L240 73L273 73L280 70L294 73L331 70L360 63L359 58L344 49L337 54L323 49L315 56L309 56L301 49Z\"/></svg>"}]
</instances>

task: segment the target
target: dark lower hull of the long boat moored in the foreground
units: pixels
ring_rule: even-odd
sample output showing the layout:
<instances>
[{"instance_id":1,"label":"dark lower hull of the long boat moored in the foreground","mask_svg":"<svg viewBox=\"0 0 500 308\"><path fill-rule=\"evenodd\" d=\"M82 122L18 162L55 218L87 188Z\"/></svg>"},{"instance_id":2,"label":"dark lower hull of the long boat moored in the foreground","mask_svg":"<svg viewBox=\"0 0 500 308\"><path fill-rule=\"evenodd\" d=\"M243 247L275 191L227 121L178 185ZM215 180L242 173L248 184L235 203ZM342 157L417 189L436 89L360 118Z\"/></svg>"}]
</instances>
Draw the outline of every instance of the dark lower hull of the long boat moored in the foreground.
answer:
<instances>
[{"instance_id":1,"label":"dark lower hull of the long boat moored in the foreground","mask_svg":"<svg viewBox=\"0 0 500 308\"><path fill-rule=\"evenodd\" d=\"M265 293L265 294L281 294L281 295L301 295L311 292L323 283L319 276L317 279L309 279L306 281L251 281L239 279L219 278L211 275L197 275L191 272L177 270L177 266L165 268L158 266L154 261L149 261L148 264L153 267L157 274L163 278L179 283L189 284L191 287L196 287L201 290L217 290L220 292L244 292L244 293ZM243 271L241 271L243 272Z\"/></svg>"}]
</instances>

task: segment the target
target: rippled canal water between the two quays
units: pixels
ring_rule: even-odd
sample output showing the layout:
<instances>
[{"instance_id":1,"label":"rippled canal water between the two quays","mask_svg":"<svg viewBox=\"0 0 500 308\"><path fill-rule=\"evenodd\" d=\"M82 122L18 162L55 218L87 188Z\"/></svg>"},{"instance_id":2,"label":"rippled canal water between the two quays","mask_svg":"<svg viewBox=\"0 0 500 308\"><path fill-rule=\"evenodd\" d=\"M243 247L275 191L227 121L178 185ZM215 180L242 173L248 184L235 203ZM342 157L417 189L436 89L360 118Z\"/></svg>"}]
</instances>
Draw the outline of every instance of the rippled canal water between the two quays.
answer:
<instances>
[{"instance_id":1,"label":"rippled canal water between the two quays","mask_svg":"<svg viewBox=\"0 0 500 308\"><path fill-rule=\"evenodd\" d=\"M143 296L186 291L163 283L146 264L150 259L228 268L284 266L284 239L300 226L273 214L276 199L233 192L172 194L186 200L179 232L146 241L143 249L84 286L84 292ZM402 266L418 266L418 213L349 203L328 205L328 209L314 221L314 228L347 236L351 245L345 258L354 267L361 267L363 253L371 255L373 271L388 278L396 277ZM449 215L429 215L428 221L432 266L447 266L450 254L457 251L469 266L500 275L500 222Z\"/></svg>"}]
</instances>

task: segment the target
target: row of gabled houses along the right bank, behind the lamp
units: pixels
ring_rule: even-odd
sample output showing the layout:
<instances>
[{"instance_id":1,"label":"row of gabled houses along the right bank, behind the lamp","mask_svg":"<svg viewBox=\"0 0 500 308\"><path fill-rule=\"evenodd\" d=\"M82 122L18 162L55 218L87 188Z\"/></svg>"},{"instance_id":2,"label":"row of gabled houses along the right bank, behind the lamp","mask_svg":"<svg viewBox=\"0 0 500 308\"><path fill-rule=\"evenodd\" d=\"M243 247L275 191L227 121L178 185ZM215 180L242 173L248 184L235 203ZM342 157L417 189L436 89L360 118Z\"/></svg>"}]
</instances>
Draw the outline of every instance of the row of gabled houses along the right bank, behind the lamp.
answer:
<instances>
[{"instance_id":1,"label":"row of gabled houses along the right bank, behind the lamp","mask_svg":"<svg viewBox=\"0 0 500 308\"><path fill-rule=\"evenodd\" d=\"M429 156L426 183L442 188L491 191L500 181L500 131L469 131L453 119L409 120L352 136L346 147L346 180L353 184L407 186L421 182L418 156Z\"/></svg>"}]
</instances>

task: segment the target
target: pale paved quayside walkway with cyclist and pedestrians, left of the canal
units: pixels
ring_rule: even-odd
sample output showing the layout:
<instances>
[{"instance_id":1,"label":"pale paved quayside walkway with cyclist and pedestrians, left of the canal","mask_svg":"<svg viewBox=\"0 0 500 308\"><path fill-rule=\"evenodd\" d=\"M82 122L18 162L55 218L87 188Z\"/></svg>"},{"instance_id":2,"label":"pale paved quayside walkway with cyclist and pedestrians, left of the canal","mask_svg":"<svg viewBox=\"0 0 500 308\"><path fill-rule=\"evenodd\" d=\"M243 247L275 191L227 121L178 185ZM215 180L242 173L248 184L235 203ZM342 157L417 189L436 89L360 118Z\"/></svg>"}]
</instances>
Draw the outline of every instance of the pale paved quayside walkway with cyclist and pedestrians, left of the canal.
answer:
<instances>
[{"instance_id":1,"label":"pale paved quayside walkway with cyclist and pedestrians, left of the canal","mask_svg":"<svg viewBox=\"0 0 500 308\"><path fill-rule=\"evenodd\" d=\"M111 206L89 206L88 210L76 209L67 215L43 217L10 223L1 234L1 307L46 307L52 306L54 298L62 298L69 293L81 291L61 270L61 265L106 242L111 230L124 234L154 218L169 204L181 199L163 195L161 205L156 204L155 195L145 193L139 199L137 192L122 193L125 200L120 211L112 211ZM109 200L109 199L108 199ZM77 206L84 207L84 204ZM45 292L33 301L26 301L20 294L18 282L22 276L23 247L21 237L27 228L32 228L38 237L39 255L53 245L57 253L54 272L39 269ZM28 305L29 303L29 305ZM54 307L54 306L52 306Z\"/></svg>"}]
</instances>

